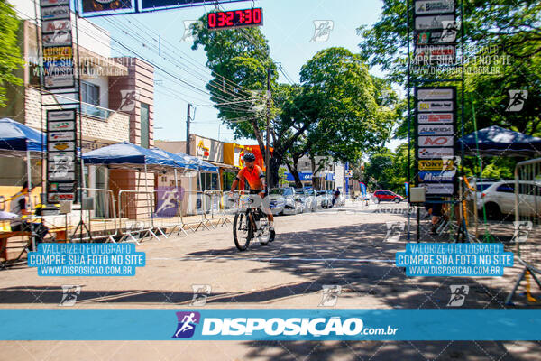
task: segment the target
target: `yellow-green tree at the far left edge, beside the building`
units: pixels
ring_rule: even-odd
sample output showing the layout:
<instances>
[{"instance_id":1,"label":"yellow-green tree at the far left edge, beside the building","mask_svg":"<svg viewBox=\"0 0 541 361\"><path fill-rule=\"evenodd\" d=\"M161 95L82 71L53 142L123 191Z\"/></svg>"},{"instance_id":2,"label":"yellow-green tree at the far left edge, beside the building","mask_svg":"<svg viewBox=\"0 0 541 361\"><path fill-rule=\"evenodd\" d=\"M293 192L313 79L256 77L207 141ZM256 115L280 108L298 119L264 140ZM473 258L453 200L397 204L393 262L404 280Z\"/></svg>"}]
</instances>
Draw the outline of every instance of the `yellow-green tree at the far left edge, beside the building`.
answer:
<instances>
[{"instance_id":1,"label":"yellow-green tree at the far left edge, beside the building","mask_svg":"<svg viewBox=\"0 0 541 361\"><path fill-rule=\"evenodd\" d=\"M23 81L14 75L23 61L17 45L19 20L13 6L0 1L0 106L5 106L5 87L8 84L22 85Z\"/></svg>"}]
</instances>

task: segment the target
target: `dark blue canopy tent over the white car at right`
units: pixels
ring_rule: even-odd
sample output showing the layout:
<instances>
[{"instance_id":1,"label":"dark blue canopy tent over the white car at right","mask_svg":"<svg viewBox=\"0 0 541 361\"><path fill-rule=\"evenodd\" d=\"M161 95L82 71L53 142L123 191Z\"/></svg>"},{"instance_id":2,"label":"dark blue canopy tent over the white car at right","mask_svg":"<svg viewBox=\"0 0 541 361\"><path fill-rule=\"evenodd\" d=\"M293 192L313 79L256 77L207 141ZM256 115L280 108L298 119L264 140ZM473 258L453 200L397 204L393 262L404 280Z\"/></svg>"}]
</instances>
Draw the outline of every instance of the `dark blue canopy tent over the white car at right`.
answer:
<instances>
[{"instance_id":1,"label":"dark blue canopy tent over the white car at right","mask_svg":"<svg viewBox=\"0 0 541 361\"><path fill-rule=\"evenodd\" d=\"M477 154L476 135L481 155L530 156L541 153L541 138L513 132L497 125L491 125L460 138L458 142L463 143L465 153Z\"/></svg>"}]
</instances>

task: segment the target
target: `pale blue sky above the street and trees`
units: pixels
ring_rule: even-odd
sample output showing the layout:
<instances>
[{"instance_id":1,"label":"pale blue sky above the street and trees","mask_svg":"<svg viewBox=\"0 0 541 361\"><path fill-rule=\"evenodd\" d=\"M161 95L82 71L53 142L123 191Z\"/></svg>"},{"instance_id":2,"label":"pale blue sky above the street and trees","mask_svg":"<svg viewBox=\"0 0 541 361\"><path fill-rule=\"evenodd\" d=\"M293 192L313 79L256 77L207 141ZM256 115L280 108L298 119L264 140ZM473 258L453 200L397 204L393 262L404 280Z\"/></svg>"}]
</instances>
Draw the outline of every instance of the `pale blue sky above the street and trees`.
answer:
<instances>
[{"instance_id":1,"label":"pale blue sky above the street and trees","mask_svg":"<svg viewBox=\"0 0 541 361\"><path fill-rule=\"evenodd\" d=\"M356 29L362 24L375 23L381 14L379 0L259 0L255 1L254 5L263 8L264 24L261 31L269 40L271 57L281 62L283 69L295 82L298 82L298 72L302 65L317 51L343 46L350 51L359 52L360 37ZM250 1L223 5L228 10L251 6ZM92 21L111 32L113 39L124 42L138 56L167 69L191 86L204 89L206 81L210 79L209 71L204 69L205 51L192 51L191 42L180 40L184 34L184 21L196 20L213 8L198 6L150 14L93 18ZM310 42L314 36L316 20L333 21L334 29L327 42ZM159 35L161 58L158 55ZM114 55L133 56L133 53L116 42L112 44ZM371 72L382 75L377 69L371 69ZM196 119L191 125L192 133L218 139L219 132L220 140L234 140L231 130L220 125L215 109L205 106L210 104L206 94L186 83L180 83L179 80L172 80L160 70L156 71L155 79L158 80L155 85L155 139L186 139L186 108L189 101L203 105L197 106ZM288 82L281 74L280 81ZM254 141L240 140L237 143Z\"/></svg>"}]
</instances>

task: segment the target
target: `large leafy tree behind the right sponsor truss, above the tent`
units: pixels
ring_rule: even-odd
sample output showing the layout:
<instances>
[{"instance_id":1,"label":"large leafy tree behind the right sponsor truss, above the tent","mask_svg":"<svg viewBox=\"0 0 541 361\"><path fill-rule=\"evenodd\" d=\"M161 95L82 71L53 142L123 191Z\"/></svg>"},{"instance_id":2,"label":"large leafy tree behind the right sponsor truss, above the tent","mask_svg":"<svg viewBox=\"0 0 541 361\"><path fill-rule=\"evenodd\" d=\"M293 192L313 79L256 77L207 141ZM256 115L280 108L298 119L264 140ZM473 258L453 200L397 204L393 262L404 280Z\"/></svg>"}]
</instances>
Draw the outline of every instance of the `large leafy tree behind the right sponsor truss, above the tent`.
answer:
<instances>
[{"instance_id":1,"label":"large leafy tree behind the right sponsor truss, above the tent","mask_svg":"<svg viewBox=\"0 0 541 361\"><path fill-rule=\"evenodd\" d=\"M363 60L370 66L381 67L389 74L388 79L402 86L406 84L408 60L406 4L403 0L383 0L381 19L373 26L358 29L362 36L359 46ZM409 4L412 5L413 1ZM466 69L469 70L464 88L465 134L474 130L473 103L478 129L500 125L526 134L540 135L541 3L537 0L471 0L462 4L461 26L465 60L468 60ZM412 9L409 14L412 23ZM482 64L480 59L490 61ZM476 71L482 66L497 71L484 71L485 74ZM528 91L524 109L518 113L506 111L509 90L514 89ZM462 99L458 100L460 104ZM404 121L395 136L404 139L407 134L408 124ZM500 162L498 157L485 161L485 165L491 165L490 169L497 170L500 176L509 174L508 167L513 166L513 162ZM472 164L471 169L476 167L476 161L464 160L464 163ZM491 171L491 174L494 172Z\"/></svg>"}]
</instances>

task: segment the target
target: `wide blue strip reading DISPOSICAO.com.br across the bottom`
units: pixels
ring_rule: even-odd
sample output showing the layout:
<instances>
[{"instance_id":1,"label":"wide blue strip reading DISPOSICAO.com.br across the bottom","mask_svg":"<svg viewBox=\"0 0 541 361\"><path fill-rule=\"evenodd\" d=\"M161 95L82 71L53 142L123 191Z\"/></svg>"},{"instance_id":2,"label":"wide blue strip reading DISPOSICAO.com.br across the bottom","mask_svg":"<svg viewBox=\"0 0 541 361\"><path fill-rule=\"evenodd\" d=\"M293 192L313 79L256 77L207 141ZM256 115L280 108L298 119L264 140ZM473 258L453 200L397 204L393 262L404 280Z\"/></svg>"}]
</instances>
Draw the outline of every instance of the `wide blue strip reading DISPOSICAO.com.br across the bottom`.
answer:
<instances>
[{"instance_id":1,"label":"wide blue strip reading DISPOSICAO.com.br across the bottom","mask_svg":"<svg viewBox=\"0 0 541 361\"><path fill-rule=\"evenodd\" d=\"M2 340L538 340L541 310L0 310Z\"/></svg>"}]
</instances>

